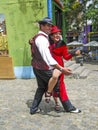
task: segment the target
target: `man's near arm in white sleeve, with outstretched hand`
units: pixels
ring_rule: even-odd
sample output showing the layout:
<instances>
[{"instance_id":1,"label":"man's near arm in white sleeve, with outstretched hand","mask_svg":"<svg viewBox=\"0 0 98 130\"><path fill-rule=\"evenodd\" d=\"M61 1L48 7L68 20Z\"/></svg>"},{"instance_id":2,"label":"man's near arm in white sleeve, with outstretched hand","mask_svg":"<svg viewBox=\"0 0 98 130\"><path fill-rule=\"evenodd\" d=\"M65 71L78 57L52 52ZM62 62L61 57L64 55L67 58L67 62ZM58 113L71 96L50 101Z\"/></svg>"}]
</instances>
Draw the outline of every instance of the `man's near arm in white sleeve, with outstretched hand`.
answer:
<instances>
[{"instance_id":1,"label":"man's near arm in white sleeve, with outstretched hand","mask_svg":"<svg viewBox=\"0 0 98 130\"><path fill-rule=\"evenodd\" d=\"M47 63L47 65L53 66L54 68L60 70L65 75L72 74L72 71L69 68L64 68L64 67L60 66L57 63L57 61L52 57L50 50L49 50L49 42L45 37L39 36L39 38L36 39L36 45L37 45L43 59Z\"/></svg>"}]
</instances>

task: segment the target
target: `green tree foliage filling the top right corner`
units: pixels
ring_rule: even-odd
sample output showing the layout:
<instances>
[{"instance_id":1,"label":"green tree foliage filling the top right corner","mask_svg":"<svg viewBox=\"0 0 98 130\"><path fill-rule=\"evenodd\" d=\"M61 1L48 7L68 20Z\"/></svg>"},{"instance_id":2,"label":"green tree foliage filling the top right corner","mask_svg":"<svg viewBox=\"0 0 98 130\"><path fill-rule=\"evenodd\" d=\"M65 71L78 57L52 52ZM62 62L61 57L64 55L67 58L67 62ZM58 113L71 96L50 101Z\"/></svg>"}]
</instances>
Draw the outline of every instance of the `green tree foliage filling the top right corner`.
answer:
<instances>
[{"instance_id":1,"label":"green tree foliage filling the top right corner","mask_svg":"<svg viewBox=\"0 0 98 130\"><path fill-rule=\"evenodd\" d=\"M92 3L90 1L83 0L80 3L76 0L64 0L67 31L81 31L82 26L87 25L87 20L91 20L94 31L98 31L98 0L93 0Z\"/></svg>"}]
</instances>

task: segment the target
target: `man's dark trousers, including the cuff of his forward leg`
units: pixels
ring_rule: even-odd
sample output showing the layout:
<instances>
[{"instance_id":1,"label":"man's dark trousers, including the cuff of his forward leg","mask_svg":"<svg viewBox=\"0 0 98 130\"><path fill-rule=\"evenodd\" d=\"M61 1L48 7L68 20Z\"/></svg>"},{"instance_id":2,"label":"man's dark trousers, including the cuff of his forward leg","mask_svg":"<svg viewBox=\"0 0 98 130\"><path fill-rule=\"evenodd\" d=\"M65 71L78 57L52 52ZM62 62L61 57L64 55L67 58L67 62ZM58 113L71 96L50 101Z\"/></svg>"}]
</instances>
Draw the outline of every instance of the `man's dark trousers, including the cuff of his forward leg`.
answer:
<instances>
[{"instance_id":1,"label":"man's dark trousers, including the cuff of his forward leg","mask_svg":"<svg viewBox=\"0 0 98 130\"><path fill-rule=\"evenodd\" d=\"M33 71L36 76L38 88L36 90L34 100L33 100L30 110L32 113L35 113L42 100L43 94L47 91L48 82L49 82L49 79L52 77L53 70L46 71L46 70L38 70L38 69L33 68ZM59 83L56 84L55 88L58 86L58 84ZM56 90L58 90L58 87ZM54 91L56 90L54 89ZM61 97L59 98L61 99ZM73 109L73 105L71 104L69 100L67 101L61 100L61 103L66 111L70 111L71 109Z\"/></svg>"}]
</instances>

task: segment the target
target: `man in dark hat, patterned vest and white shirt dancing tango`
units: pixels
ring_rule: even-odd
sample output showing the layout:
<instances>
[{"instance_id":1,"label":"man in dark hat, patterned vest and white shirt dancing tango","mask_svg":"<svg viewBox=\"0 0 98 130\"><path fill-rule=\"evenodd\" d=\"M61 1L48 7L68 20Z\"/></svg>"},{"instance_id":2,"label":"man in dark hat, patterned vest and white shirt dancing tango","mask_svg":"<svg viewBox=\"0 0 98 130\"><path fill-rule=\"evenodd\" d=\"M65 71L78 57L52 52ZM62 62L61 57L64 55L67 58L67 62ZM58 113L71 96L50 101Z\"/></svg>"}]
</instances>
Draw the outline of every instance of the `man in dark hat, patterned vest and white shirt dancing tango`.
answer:
<instances>
[{"instance_id":1,"label":"man in dark hat, patterned vest and white shirt dancing tango","mask_svg":"<svg viewBox=\"0 0 98 130\"><path fill-rule=\"evenodd\" d=\"M30 114L39 111L39 104L42 100L43 94L47 91L48 81L52 76L54 68L60 70L65 75L72 74L69 68L61 67L51 56L49 50L48 35L51 32L52 21L45 17L39 23L40 31L32 38L29 43L32 52L32 66L36 76L38 88L36 90L32 106L30 107Z\"/></svg>"}]
</instances>

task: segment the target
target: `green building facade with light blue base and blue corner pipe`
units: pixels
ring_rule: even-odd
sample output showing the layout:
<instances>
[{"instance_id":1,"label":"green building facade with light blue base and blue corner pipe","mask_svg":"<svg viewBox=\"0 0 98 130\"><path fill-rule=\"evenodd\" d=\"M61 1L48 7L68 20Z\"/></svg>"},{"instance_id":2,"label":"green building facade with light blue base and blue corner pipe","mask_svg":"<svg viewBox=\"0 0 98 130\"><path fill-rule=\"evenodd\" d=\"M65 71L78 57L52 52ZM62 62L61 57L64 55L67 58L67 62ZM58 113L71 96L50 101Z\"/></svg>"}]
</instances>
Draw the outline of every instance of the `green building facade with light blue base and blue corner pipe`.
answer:
<instances>
[{"instance_id":1,"label":"green building facade with light blue base and blue corner pipe","mask_svg":"<svg viewBox=\"0 0 98 130\"><path fill-rule=\"evenodd\" d=\"M37 33L38 21L43 17L49 16L55 23L53 7L63 18L60 5L55 0L0 0L0 24L5 27L0 34L6 37L6 47L1 47L0 52L12 58L16 78L34 77L28 40Z\"/></svg>"}]
</instances>

